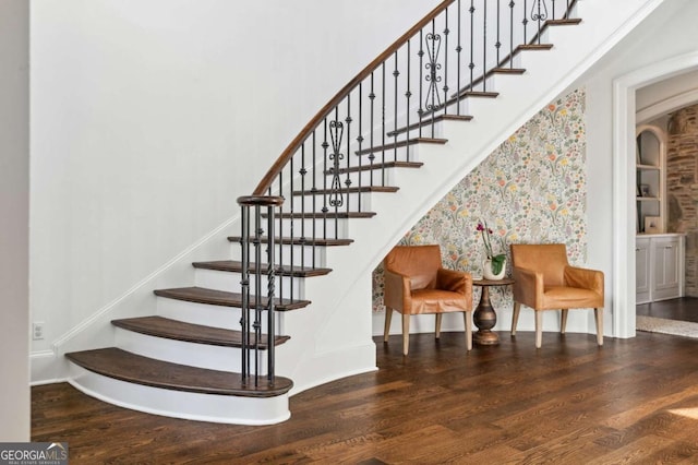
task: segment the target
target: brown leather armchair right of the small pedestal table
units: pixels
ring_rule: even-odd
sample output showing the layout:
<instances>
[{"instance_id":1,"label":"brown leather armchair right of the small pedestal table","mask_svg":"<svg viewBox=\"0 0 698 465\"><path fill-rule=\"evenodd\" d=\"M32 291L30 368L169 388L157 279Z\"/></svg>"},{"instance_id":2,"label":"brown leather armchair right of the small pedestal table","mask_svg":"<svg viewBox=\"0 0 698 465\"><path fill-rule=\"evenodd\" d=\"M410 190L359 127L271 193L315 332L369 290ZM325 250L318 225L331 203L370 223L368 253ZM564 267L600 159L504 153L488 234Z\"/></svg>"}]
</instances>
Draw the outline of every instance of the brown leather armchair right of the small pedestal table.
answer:
<instances>
[{"instance_id":1,"label":"brown leather armchair right of the small pedestal table","mask_svg":"<svg viewBox=\"0 0 698 465\"><path fill-rule=\"evenodd\" d=\"M535 310L535 347L542 343L544 310L562 310L561 333L565 334L569 309L593 308L597 342L603 345L603 273L570 266L564 243L512 245L514 315L516 335L521 303Z\"/></svg>"}]
</instances>

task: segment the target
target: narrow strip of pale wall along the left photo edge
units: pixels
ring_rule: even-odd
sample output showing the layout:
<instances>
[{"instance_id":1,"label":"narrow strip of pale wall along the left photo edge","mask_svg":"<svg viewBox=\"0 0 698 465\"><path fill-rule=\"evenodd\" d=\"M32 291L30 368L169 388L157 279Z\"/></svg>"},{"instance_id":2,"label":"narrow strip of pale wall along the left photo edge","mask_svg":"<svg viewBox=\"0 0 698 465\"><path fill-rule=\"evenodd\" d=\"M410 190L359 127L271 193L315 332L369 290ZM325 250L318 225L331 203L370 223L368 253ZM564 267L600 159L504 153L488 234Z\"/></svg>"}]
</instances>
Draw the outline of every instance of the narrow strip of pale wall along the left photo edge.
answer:
<instances>
[{"instance_id":1,"label":"narrow strip of pale wall along the left photo edge","mask_svg":"<svg viewBox=\"0 0 698 465\"><path fill-rule=\"evenodd\" d=\"M0 441L29 440L29 11L0 2Z\"/></svg>"}]
</instances>

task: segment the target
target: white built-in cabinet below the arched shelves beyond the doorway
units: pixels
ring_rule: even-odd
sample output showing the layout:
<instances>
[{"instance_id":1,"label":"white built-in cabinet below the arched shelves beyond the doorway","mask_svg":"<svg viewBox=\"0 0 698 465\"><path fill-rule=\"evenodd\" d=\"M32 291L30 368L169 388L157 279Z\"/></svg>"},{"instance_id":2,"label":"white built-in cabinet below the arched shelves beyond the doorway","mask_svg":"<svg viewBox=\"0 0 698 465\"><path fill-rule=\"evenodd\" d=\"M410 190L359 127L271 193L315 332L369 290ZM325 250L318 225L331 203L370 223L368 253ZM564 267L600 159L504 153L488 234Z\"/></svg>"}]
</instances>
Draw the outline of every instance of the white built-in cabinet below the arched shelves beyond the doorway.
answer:
<instances>
[{"instance_id":1,"label":"white built-in cabinet below the arched shelves beyond the doorway","mask_svg":"<svg viewBox=\"0 0 698 465\"><path fill-rule=\"evenodd\" d=\"M642 235L635 239L636 302L684 295L684 236Z\"/></svg>"}]
</instances>

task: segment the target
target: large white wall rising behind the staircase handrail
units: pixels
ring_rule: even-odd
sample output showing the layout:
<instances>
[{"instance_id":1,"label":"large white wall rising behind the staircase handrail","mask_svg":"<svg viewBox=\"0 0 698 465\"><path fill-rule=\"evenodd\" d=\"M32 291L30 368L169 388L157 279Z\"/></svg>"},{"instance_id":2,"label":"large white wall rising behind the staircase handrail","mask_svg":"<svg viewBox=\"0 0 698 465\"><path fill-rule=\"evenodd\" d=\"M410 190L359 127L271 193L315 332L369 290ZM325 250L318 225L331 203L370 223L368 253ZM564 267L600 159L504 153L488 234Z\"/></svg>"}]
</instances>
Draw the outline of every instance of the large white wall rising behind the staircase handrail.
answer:
<instances>
[{"instance_id":1,"label":"large white wall rising behind the staircase handrail","mask_svg":"<svg viewBox=\"0 0 698 465\"><path fill-rule=\"evenodd\" d=\"M437 3L33 2L34 353L233 218L314 112Z\"/></svg>"}]
</instances>

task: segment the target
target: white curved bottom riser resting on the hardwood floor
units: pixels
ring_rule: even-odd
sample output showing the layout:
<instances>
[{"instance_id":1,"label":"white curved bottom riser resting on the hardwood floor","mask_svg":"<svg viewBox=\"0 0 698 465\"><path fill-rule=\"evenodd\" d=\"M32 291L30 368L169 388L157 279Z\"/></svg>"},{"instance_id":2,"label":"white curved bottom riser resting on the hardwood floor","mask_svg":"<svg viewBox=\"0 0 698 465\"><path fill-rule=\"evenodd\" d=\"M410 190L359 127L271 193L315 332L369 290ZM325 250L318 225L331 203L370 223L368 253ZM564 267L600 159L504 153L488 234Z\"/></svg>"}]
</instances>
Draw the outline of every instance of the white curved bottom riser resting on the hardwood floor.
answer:
<instances>
[{"instance_id":1,"label":"white curved bottom riser resting on the hardwood floor","mask_svg":"<svg viewBox=\"0 0 698 465\"><path fill-rule=\"evenodd\" d=\"M68 381L100 401L148 414L232 425L275 425L287 420L288 394L238 397L128 383L70 365Z\"/></svg>"}]
</instances>

